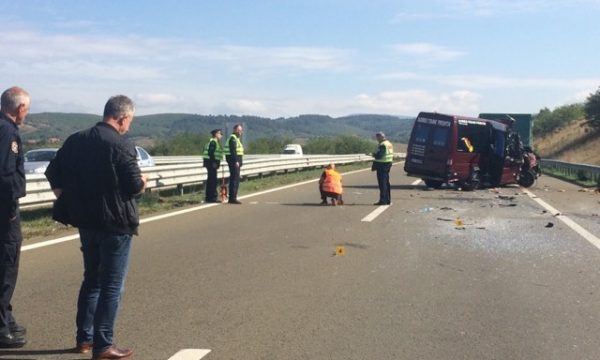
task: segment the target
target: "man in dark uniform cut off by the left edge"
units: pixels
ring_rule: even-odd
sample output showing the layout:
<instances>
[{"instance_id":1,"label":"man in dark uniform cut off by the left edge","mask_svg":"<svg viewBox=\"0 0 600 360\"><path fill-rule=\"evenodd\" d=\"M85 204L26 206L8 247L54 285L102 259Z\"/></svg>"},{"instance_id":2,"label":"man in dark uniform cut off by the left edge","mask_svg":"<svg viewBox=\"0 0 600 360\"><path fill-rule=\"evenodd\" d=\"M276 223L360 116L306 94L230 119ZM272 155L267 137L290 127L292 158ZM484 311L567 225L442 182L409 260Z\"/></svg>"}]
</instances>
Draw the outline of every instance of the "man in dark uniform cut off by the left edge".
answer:
<instances>
[{"instance_id":1,"label":"man in dark uniform cut off by the left edge","mask_svg":"<svg viewBox=\"0 0 600 360\"><path fill-rule=\"evenodd\" d=\"M23 242L18 199L25 196L25 170L18 126L29 104L29 94L19 87L4 91L0 98L0 348L27 343L27 330L15 321L10 302Z\"/></svg>"}]
</instances>

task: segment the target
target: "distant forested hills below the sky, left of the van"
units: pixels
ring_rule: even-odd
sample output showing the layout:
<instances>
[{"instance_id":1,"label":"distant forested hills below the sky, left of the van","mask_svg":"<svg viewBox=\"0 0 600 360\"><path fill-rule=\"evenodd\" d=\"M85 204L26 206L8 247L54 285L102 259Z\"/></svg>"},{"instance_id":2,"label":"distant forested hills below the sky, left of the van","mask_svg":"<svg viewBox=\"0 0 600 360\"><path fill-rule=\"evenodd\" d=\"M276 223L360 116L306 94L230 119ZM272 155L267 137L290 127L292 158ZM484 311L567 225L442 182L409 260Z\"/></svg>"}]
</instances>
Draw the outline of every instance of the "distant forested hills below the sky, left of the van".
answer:
<instances>
[{"instance_id":1,"label":"distant forested hills below the sky, left of the van","mask_svg":"<svg viewBox=\"0 0 600 360\"><path fill-rule=\"evenodd\" d=\"M101 116L91 114L30 114L21 134L30 143L62 141L70 134L101 120ZM134 139L161 140L181 133L208 134L215 128L224 128L230 132L234 124L242 123L245 125L246 140L263 137L307 139L340 134L373 137L375 132L383 131L392 141L406 143L413 122L414 117L373 114L339 118L300 115L278 119L235 115L154 114L136 116L129 135Z\"/></svg>"}]
</instances>

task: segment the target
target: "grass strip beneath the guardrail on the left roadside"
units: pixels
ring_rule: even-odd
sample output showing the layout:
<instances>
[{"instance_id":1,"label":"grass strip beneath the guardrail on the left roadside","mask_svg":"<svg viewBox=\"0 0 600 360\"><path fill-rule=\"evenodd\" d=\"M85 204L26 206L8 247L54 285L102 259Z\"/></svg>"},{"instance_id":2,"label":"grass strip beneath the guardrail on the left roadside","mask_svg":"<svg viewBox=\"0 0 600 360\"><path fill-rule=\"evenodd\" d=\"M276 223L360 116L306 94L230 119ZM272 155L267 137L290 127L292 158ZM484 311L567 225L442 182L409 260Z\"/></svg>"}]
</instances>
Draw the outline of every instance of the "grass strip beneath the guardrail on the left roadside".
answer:
<instances>
[{"instance_id":1,"label":"grass strip beneath the guardrail on the left roadside","mask_svg":"<svg viewBox=\"0 0 600 360\"><path fill-rule=\"evenodd\" d=\"M348 172L364 169L367 166L369 166L367 163L356 163L338 165L336 168L340 172ZM315 168L246 179L240 183L239 195L241 196L257 191L272 189L278 186L315 179L318 178L322 172L322 168ZM179 195L179 192L175 189L146 193L140 198L138 203L140 215L147 216L170 210L197 206L204 200L203 189L204 187L202 185L192 185L184 188L183 195ZM22 210L21 226L24 239L48 237L72 230L71 227L52 220L51 208Z\"/></svg>"}]
</instances>

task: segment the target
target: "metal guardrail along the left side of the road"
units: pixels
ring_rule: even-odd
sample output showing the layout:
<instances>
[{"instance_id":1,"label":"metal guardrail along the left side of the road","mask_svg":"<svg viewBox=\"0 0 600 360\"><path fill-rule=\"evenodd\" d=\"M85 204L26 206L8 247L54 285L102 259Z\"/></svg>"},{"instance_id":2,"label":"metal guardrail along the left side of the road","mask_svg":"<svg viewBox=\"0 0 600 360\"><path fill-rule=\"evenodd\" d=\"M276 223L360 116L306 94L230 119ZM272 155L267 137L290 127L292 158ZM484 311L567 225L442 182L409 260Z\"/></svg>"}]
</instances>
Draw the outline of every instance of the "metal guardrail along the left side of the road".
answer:
<instances>
[{"instance_id":1,"label":"metal guardrail along the left side of the road","mask_svg":"<svg viewBox=\"0 0 600 360\"><path fill-rule=\"evenodd\" d=\"M403 154L400 154L403 155ZM306 168L323 167L329 163L349 164L370 161L373 158L364 154L350 155L253 155L244 157L241 169L242 178L260 177L280 172ZM148 177L147 189L180 188L206 181L206 169L201 156L154 157L157 166L142 168ZM224 176L229 177L227 164L223 164ZM219 170L221 176L221 170ZM50 204L55 200L50 184L43 174L28 174L27 196L20 199L22 208Z\"/></svg>"}]
</instances>

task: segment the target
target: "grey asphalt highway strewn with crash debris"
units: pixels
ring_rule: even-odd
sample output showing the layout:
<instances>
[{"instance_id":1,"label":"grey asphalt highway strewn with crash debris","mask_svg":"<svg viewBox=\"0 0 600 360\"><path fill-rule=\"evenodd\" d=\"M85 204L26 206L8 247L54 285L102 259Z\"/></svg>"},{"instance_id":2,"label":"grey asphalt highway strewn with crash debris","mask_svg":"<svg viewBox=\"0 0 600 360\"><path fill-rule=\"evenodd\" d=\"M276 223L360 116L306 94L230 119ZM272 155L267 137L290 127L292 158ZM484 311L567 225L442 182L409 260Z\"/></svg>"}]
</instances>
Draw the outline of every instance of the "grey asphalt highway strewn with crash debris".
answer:
<instances>
[{"instance_id":1,"label":"grey asphalt highway strewn with crash debris","mask_svg":"<svg viewBox=\"0 0 600 360\"><path fill-rule=\"evenodd\" d=\"M415 180L394 166L389 207L366 170L344 175L344 206L310 182L145 222L116 343L144 360L600 358L600 196ZM87 359L69 353L79 242L32 244L13 302L30 343L0 359Z\"/></svg>"}]
</instances>

